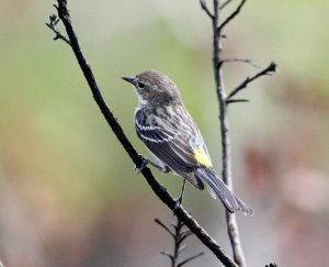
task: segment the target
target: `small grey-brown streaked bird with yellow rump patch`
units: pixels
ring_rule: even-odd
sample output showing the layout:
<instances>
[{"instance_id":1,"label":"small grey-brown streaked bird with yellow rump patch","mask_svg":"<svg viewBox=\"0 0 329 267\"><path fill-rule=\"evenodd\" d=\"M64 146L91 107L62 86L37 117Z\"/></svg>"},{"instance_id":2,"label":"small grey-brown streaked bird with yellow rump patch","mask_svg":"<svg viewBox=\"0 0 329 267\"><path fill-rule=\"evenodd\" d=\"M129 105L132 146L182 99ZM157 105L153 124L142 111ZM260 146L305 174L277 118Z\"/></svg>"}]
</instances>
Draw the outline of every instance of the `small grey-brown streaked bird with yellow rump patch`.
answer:
<instances>
[{"instance_id":1,"label":"small grey-brown streaked bird with yellow rump patch","mask_svg":"<svg viewBox=\"0 0 329 267\"><path fill-rule=\"evenodd\" d=\"M175 84L157 70L122 78L135 87L139 100L135 112L137 135L160 166L144 158L145 164L151 164L162 173L182 176L197 189L203 190L206 185L211 194L231 213L253 214L213 168L200 130L185 109Z\"/></svg>"}]
</instances>

